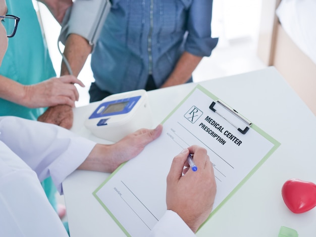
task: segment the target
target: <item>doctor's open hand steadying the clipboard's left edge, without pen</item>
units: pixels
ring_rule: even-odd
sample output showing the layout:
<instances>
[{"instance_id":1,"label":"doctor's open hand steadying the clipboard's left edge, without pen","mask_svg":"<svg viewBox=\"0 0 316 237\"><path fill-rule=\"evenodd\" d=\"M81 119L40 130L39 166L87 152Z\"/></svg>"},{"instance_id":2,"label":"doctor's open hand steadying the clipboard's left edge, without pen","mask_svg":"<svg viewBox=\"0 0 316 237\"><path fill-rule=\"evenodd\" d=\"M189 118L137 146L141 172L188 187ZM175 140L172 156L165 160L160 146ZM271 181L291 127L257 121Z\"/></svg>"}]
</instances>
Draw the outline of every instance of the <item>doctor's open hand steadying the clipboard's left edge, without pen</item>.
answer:
<instances>
[{"instance_id":1,"label":"doctor's open hand steadying the clipboard's left edge, without pen","mask_svg":"<svg viewBox=\"0 0 316 237\"><path fill-rule=\"evenodd\" d=\"M162 125L155 129L140 129L112 145L96 144L78 169L113 172L120 164L137 156L161 135L162 130Z\"/></svg>"}]
</instances>

